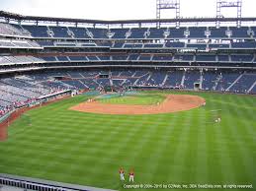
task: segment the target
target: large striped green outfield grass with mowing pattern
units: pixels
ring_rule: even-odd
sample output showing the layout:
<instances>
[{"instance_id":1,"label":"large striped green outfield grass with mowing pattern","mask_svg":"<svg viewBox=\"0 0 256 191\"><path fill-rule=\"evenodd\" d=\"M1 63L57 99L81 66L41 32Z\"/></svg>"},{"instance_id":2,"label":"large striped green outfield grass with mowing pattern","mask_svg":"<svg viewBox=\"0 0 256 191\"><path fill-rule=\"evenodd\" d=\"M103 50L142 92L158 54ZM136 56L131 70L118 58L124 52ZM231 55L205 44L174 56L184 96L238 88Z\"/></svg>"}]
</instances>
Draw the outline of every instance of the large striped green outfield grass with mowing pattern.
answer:
<instances>
[{"instance_id":1,"label":"large striped green outfield grass with mowing pattern","mask_svg":"<svg viewBox=\"0 0 256 191\"><path fill-rule=\"evenodd\" d=\"M30 119L17 120L8 141L0 142L0 172L124 190L123 166L134 168L136 183L255 189L256 97L182 94L203 96L207 105L170 114L103 115L68 110L87 99L76 96L31 110ZM221 109L219 124L213 123L215 109Z\"/></svg>"}]
</instances>

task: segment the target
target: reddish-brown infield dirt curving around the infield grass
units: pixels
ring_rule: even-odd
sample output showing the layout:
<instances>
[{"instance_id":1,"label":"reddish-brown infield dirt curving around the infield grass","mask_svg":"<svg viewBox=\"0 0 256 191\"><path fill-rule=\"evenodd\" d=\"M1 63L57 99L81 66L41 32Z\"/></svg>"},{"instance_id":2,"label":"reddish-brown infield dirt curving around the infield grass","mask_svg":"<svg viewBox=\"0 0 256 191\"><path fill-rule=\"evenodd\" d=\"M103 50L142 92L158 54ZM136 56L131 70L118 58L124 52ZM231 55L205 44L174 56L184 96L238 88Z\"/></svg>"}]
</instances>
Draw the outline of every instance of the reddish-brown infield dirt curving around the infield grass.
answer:
<instances>
[{"instance_id":1,"label":"reddish-brown infield dirt curving around the infield grass","mask_svg":"<svg viewBox=\"0 0 256 191\"><path fill-rule=\"evenodd\" d=\"M205 98L201 96L169 95L158 105L111 104L93 101L80 103L70 109L100 114L157 114L189 110L205 102Z\"/></svg>"}]
</instances>

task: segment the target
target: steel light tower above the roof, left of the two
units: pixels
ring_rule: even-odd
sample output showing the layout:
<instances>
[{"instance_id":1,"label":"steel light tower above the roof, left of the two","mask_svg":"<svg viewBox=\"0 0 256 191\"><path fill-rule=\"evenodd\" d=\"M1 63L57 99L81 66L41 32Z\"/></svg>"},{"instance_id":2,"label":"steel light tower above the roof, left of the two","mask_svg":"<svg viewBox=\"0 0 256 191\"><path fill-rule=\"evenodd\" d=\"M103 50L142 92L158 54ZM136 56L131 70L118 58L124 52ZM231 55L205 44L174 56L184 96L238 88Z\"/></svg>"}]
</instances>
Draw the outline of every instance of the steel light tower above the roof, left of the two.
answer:
<instances>
[{"instance_id":1,"label":"steel light tower above the roof, left of the two","mask_svg":"<svg viewBox=\"0 0 256 191\"><path fill-rule=\"evenodd\" d=\"M180 18L180 0L156 0L156 19L161 19L161 11L175 11L175 18ZM171 18L168 18L171 19ZM158 27L160 24L158 23ZM176 27L180 27L180 22L176 22Z\"/></svg>"}]
</instances>

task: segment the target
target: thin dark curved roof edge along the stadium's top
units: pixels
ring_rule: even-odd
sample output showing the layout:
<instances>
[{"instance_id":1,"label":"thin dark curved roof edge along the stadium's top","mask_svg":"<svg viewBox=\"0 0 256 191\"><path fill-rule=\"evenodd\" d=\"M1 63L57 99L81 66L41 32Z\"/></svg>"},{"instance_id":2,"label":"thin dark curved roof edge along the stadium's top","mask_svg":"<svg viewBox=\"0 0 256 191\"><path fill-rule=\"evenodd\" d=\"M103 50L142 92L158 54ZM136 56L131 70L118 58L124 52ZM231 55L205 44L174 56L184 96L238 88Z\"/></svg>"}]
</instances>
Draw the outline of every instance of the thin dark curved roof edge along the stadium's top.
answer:
<instances>
[{"instance_id":1,"label":"thin dark curved roof edge along the stadium's top","mask_svg":"<svg viewBox=\"0 0 256 191\"><path fill-rule=\"evenodd\" d=\"M71 19L71 18L51 18L51 17L36 17L36 16L24 16L15 13L9 13L0 11L0 18L5 18L15 21L37 21L37 22L62 22L62 23L80 23L80 24L103 24L103 25L115 25L115 24L146 24L146 23L196 23L196 22L236 22L237 18L180 18L180 19L148 19L148 20L86 20L86 19ZM240 18L241 22L256 22L256 18Z\"/></svg>"}]
</instances>

